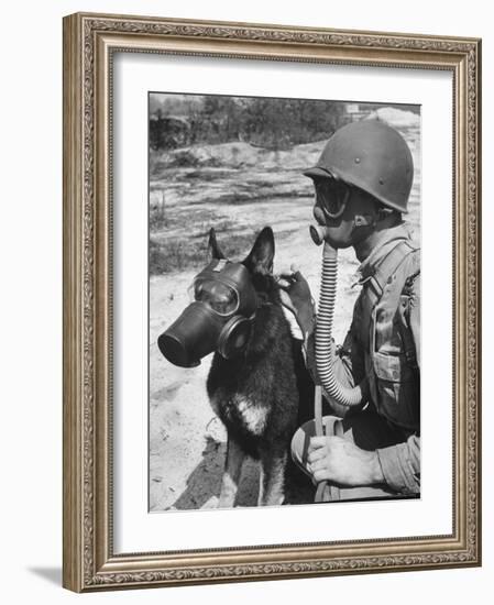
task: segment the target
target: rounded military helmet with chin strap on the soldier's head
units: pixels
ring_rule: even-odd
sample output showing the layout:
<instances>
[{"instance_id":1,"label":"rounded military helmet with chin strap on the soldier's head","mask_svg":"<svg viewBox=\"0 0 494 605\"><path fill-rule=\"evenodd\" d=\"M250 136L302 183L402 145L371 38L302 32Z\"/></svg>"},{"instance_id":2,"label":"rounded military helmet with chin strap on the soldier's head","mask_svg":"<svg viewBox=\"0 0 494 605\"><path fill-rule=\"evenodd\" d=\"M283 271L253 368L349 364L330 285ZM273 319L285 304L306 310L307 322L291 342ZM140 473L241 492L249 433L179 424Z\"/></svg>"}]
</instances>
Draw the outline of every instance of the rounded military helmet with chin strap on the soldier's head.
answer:
<instances>
[{"instance_id":1,"label":"rounded military helmet with chin strap on the soldier's head","mask_svg":"<svg viewBox=\"0 0 494 605\"><path fill-rule=\"evenodd\" d=\"M407 212L414 161L403 136L377 120L352 122L330 138L309 177L333 177Z\"/></svg>"}]
</instances>

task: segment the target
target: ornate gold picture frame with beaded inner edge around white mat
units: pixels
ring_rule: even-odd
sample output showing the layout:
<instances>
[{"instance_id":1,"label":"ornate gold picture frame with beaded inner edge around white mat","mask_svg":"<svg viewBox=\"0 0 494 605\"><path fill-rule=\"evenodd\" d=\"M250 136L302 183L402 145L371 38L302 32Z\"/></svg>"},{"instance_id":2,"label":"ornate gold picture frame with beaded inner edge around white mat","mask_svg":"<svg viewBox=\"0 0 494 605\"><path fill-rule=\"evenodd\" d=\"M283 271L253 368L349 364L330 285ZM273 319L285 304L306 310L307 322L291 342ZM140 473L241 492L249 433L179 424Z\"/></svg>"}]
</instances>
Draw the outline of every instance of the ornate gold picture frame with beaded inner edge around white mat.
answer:
<instances>
[{"instance_id":1,"label":"ornate gold picture frame with beaded inner edge around white mat","mask_svg":"<svg viewBox=\"0 0 494 605\"><path fill-rule=\"evenodd\" d=\"M452 535L114 554L111 507L111 57L127 52L446 69L453 75ZM307 578L481 563L481 42L73 14L64 19L64 586Z\"/></svg>"}]
</instances>

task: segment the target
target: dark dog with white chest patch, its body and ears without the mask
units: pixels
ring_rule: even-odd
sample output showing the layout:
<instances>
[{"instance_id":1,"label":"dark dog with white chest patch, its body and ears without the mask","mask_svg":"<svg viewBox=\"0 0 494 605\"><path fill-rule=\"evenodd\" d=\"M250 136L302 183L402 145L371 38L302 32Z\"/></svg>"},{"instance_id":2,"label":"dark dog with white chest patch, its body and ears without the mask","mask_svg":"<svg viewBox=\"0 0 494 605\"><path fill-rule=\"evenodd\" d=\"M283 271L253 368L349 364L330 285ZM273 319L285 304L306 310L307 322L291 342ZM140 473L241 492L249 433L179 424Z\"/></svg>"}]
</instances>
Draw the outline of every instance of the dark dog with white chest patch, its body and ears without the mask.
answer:
<instances>
[{"instance_id":1,"label":"dark dog with white chest patch, its body and ears without the mask","mask_svg":"<svg viewBox=\"0 0 494 605\"><path fill-rule=\"evenodd\" d=\"M212 258L226 257L213 229L209 254ZM259 299L245 352L232 360L215 353L207 380L211 406L228 430L220 508L234 506L246 455L261 465L257 505L279 505L285 497L285 470L297 428L299 391L295 350L273 276L273 231L266 227L242 261Z\"/></svg>"}]
</instances>

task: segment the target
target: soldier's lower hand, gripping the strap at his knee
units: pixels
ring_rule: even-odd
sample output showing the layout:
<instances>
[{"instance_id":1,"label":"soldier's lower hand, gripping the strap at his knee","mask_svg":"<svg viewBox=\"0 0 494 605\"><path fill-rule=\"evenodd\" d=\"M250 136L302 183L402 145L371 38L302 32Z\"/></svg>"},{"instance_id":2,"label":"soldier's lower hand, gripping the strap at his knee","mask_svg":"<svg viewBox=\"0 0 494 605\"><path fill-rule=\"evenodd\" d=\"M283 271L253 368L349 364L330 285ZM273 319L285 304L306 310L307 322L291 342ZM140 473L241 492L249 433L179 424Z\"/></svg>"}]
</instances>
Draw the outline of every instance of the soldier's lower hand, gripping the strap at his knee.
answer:
<instances>
[{"instance_id":1,"label":"soldier's lower hand, gripping the strap at his knee","mask_svg":"<svg viewBox=\"0 0 494 605\"><path fill-rule=\"evenodd\" d=\"M307 461L316 482L327 480L350 487L384 482L377 452L362 450L342 437L312 437Z\"/></svg>"}]
</instances>

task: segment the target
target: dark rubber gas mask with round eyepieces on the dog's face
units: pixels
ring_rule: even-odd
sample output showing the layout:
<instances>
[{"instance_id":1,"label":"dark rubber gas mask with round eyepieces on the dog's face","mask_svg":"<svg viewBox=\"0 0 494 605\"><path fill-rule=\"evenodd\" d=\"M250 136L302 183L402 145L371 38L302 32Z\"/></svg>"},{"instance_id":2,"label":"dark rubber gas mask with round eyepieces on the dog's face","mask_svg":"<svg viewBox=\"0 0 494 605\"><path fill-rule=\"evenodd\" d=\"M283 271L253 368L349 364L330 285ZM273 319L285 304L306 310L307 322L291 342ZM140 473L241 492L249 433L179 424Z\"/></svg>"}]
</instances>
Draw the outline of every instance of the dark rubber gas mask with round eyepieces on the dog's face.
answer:
<instances>
[{"instance_id":1,"label":"dark rubber gas mask with round eyepieces on the dog's face","mask_svg":"<svg viewBox=\"0 0 494 605\"><path fill-rule=\"evenodd\" d=\"M199 365L213 351L227 360L240 355L257 308L246 267L215 258L196 276L189 294L190 305L157 340L163 355L180 367Z\"/></svg>"}]
</instances>

